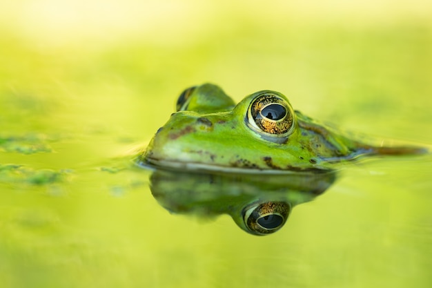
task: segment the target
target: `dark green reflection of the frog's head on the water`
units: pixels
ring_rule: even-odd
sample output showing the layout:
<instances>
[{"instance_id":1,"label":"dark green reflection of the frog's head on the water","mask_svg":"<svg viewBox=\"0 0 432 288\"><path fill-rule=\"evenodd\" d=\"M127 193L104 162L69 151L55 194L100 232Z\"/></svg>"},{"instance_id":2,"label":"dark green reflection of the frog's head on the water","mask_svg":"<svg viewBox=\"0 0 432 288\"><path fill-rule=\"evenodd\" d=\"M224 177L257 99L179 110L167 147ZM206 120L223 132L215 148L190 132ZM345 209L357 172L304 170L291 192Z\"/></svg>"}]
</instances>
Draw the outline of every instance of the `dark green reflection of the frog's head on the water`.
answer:
<instances>
[{"instance_id":1,"label":"dark green reflection of the frog's head on the water","mask_svg":"<svg viewBox=\"0 0 432 288\"><path fill-rule=\"evenodd\" d=\"M244 231L266 235L284 226L295 205L313 200L334 180L334 171L264 175L157 169L150 189L170 212L202 218L229 214Z\"/></svg>"}]
</instances>

